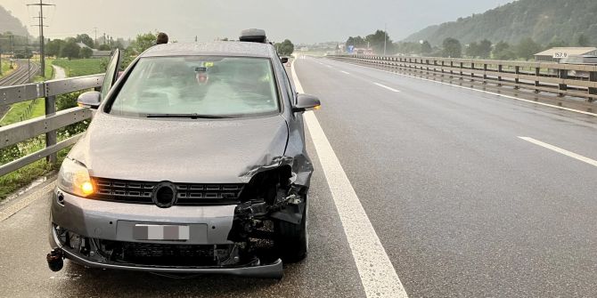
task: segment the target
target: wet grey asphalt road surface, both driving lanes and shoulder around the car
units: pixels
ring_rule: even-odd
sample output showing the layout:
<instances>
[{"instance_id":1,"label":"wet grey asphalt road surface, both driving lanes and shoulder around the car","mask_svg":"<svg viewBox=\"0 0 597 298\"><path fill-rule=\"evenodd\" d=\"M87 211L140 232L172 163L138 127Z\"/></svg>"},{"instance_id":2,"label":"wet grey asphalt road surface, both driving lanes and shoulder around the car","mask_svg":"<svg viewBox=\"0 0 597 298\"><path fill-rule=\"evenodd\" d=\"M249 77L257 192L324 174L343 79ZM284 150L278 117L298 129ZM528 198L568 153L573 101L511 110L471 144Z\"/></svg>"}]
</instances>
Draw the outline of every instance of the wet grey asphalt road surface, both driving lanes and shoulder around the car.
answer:
<instances>
[{"instance_id":1,"label":"wet grey asphalt road surface, both driving lanes and shoulder around the car","mask_svg":"<svg viewBox=\"0 0 597 298\"><path fill-rule=\"evenodd\" d=\"M410 297L597 296L597 167L518 138L597 159L596 117L333 60L295 67L303 89L323 101L316 116ZM70 263L51 272L49 195L41 194L0 222L0 296L363 297L307 146L310 252L285 266L280 282Z\"/></svg>"}]
</instances>

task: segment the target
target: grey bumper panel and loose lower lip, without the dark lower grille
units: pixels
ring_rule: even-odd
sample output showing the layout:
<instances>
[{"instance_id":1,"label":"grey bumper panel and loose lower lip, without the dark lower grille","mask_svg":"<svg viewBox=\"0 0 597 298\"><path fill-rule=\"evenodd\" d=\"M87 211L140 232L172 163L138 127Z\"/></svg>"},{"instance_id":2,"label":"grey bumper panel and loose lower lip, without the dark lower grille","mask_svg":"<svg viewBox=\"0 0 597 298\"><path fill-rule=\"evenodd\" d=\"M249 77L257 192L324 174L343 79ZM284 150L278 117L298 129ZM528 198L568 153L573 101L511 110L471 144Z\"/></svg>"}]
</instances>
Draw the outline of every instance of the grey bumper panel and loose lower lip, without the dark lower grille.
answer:
<instances>
[{"instance_id":1,"label":"grey bumper panel and loose lower lip, without the dark lower grille","mask_svg":"<svg viewBox=\"0 0 597 298\"><path fill-rule=\"evenodd\" d=\"M59 199L60 197L60 199ZM89 241L101 239L138 244L160 245L233 245L228 240L228 233L233 226L234 208L236 205L215 206L172 206L159 208L156 205L134 205L98 201L76 197L54 191L51 207L50 244L53 248L60 248L64 257L87 267L136 270L171 274L225 274L245 276L251 278L282 278L282 261L263 263L254 258L246 262L239 262L229 266L170 266L148 265L135 262L114 262L110 258L100 256L101 249L94 246L90 255L65 245L59 237L56 226L69 230L74 234L87 238ZM205 226L206 229L195 233L187 241L138 240L130 232L123 232L123 224L130 222L154 224L185 224Z\"/></svg>"}]
</instances>

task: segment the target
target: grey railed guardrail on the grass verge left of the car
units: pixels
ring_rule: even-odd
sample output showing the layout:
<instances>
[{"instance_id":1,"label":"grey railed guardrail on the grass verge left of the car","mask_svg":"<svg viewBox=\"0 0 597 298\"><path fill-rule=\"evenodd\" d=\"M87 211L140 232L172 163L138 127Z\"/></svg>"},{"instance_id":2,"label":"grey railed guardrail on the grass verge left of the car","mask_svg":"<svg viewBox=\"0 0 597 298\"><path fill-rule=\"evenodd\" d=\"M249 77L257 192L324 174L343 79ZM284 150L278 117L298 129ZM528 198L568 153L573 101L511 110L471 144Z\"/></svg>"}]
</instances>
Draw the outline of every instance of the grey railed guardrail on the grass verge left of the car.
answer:
<instances>
[{"instance_id":1,"label":"grey railed guardrail on the grass verge left of the car","mask_svg":"<svg viewBox=\"0 0 597 298\"><path fill-rule=\"evenodd\" d=\"M0 127L0 149L45 134L45 149L38 150L10 163L0 165L0 176L18 170L41 158L56 162L56 152L78 141L81 134L57 142L56 130L73 125L92 116L90 109L72 108L56 111L56 96L74 93L102 85L103 75L70 77L27 85L0 87L0 107L21 101L45 99L45 116Z\"/></svg>"}]
</instances>

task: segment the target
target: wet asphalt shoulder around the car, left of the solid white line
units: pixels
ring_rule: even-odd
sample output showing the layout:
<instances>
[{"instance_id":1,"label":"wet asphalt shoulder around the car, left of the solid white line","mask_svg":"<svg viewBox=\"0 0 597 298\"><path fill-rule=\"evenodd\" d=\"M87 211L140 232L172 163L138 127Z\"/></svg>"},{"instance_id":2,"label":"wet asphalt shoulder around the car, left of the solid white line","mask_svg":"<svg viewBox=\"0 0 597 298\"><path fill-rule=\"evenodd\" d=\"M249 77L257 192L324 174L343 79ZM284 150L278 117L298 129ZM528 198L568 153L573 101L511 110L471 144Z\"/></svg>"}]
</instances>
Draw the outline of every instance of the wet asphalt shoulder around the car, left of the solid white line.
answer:
<instances>
[{"instance_id":1,"label":"wet asphalt shoulder around the car, left of the solid white line","mask_svg":"<svg viewBox=\"0 0 597 298\"><path fill-rule=\"evenodd\" d=\"M285 264L280 282L226 276L171 279L149 273L86 270L70 262L52 272L45 263L51 197L42 193L31 205L0 221L0 280L4 285L0 297L364 297L315 149L310 141L307 146L315 164L309 254L303 262Z\"/></svg>"}]
</instances>

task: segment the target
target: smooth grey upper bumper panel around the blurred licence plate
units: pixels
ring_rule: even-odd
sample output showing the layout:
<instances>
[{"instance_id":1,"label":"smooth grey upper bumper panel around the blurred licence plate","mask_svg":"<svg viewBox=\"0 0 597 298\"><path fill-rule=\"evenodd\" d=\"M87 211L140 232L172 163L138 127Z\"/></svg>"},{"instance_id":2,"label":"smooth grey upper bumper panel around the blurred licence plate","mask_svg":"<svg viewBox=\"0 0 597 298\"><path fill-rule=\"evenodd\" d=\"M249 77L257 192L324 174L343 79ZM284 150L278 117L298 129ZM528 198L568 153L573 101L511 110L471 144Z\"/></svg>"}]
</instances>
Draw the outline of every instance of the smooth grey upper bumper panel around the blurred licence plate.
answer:
<instances>
[{"instance_id":1,"label":"smooth grey upper bumper panel around the blurred licence plate","mask_svg":"<svg viewBox=\"0 0 597 298\"><path fill-rule=\"evenodd\" d=\"M233 227L236 205L205 205L159 208L157 205L126 204L77 197L54 190L52 222L66 230L88 238L125 242L151 242L136 240L130 230L131 223L184 224L197 229L187 245L232 244L228 233ZM160 241L162 244L180 244Z\"/></svg>"}]
</instances>

